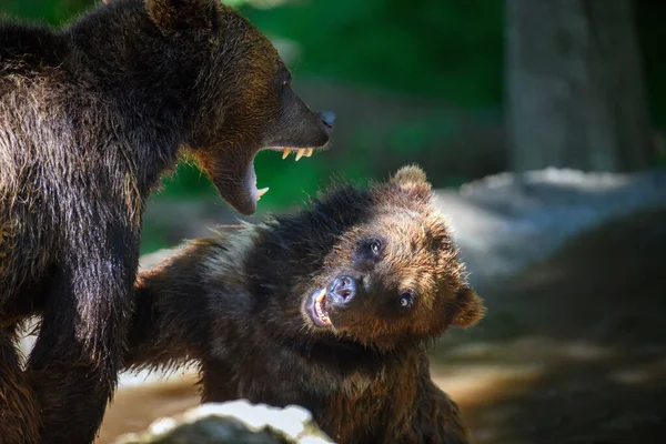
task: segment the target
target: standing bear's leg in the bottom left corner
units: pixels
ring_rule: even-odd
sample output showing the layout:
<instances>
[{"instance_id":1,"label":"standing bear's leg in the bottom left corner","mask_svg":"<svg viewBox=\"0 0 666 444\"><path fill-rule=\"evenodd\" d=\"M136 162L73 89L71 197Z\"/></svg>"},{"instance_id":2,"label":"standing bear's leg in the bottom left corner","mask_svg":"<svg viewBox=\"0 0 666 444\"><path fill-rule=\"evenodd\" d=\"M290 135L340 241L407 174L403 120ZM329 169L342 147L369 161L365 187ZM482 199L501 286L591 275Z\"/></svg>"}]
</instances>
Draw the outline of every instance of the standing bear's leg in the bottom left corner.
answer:
<instances>
[{"instance_id":1,"label":"standing bear's leg in the bottom left corner","mask_svg":"<svg viewBox=\"0 0 666 444\"><path fill-rule=\"evenodd\" d=\"M23 373L17 325L0 327L0 443L39 443L39 404Z\"/></svg>"}]
</instances>

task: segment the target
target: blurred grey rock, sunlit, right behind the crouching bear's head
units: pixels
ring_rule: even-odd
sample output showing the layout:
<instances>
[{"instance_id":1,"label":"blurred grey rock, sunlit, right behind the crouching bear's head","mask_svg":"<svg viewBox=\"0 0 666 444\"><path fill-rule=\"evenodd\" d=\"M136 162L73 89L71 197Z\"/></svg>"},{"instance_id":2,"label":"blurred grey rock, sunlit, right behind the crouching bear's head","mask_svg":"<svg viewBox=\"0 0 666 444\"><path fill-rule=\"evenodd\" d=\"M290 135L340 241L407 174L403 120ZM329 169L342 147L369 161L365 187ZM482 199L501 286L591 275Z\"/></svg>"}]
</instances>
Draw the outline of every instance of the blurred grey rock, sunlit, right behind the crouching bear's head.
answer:
<instances>
[{"instance_id":1,"label":"blurred grey rock, sunlit, right behind the crouching bear's head","mask_svg":"<svg viewBox=\"0 0 666 444\"><path fill-rule=\"evenodd\" d=\"M566 240L608 219L666 205L666 171L634 174L546 169L502 173L441 190L473 284L544 259Z\"/></svg>"}]
</instances>

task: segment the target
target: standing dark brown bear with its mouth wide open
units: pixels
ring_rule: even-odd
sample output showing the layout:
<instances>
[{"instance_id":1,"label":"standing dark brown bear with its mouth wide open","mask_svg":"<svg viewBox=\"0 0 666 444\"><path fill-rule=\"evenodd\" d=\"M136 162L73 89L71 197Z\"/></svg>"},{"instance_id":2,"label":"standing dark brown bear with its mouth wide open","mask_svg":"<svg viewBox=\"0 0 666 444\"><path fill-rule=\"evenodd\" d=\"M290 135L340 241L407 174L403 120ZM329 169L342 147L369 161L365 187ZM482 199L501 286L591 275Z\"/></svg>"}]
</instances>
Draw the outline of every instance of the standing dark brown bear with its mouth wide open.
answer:
<instances>
[{"instance_id":1,"label":"standing dark brown bear with its mouth wide open","mask_svg":"<svg viewBox=\"0 0 666 444\"><path fill-rule=\"evenodd\" d=\"M120 369L144 203L180 152L251 214L255 154L309 155L332 125L219 0L115 0L58 31L0 24L0 442L93 440ZM33 313L23 374L17 330Z\"/></svg>"}]
</instances>

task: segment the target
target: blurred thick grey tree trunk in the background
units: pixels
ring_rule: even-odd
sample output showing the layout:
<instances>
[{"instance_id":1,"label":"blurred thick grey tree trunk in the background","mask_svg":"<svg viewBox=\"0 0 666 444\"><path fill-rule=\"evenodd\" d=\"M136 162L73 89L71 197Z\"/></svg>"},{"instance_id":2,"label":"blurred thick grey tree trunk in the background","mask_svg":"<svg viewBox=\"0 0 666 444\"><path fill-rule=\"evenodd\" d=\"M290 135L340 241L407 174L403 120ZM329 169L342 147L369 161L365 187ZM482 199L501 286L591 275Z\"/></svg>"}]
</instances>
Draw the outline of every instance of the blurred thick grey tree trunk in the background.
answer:
<instances>
[{"instance_id":1,"label":"blurred thick grey tree trunk in the background","mask_svg":"<svg viewBox=\"0 0 666 444\"><path fill-rule=\"evenodd\" d=\"M650 163L630 0L506 0L513 168Z\"/></svg>"}]
</instances>

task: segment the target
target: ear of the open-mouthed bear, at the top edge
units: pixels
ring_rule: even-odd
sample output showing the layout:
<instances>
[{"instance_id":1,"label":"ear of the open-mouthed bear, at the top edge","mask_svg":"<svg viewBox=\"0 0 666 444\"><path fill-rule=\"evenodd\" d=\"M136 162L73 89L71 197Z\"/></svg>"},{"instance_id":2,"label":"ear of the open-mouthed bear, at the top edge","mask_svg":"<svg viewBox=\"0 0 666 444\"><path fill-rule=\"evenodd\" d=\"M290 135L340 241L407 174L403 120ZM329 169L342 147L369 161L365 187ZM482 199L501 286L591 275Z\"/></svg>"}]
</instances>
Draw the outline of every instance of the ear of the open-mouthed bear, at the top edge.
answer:
<instances>
[{"instance_id":1,"label":"ear of the open-mouthed bear, at the top edge","mask_svg":"<svg viewBox=\"0 0 666 444\"><path fill-rule=\"evenodd\" d=\"M219 0L145 0L150 19L163 31L213 28Z\"/></svg>"}]
</instances>

